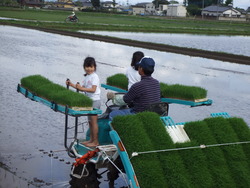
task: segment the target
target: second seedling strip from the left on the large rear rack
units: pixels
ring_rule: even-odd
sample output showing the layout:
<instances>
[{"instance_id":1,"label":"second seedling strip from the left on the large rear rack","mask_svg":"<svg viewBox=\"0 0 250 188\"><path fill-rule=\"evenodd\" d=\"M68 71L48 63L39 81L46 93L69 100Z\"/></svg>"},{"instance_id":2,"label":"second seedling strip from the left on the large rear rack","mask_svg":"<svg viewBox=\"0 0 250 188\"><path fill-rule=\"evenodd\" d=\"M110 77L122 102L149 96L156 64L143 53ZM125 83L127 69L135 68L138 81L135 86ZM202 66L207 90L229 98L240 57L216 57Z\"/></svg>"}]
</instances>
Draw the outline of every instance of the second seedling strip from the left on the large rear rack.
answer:
<instances>
[{"instance_id":1,"label":"second seedling strip from the left on the large rear rack","mask_svg":"<svg viewBox=\"0 0 250 188\"><path fill-rule=\"evenodd\" d=\"M154 150L175 148L175 144L167 134L165 126L161 122L158 114L143 112L137 114L137 116L140 118L143 129L150 138L154 146ZM162 165L164 178L168 187L192 187L190 184L189 174L186 171L184 163L177 151L160 152L157 153L157 156Z\"/></svg>"}]
</instances>

